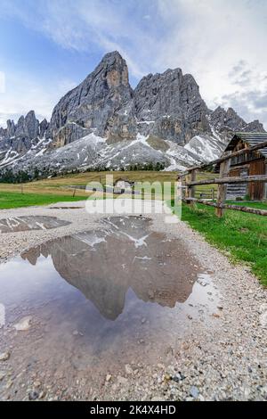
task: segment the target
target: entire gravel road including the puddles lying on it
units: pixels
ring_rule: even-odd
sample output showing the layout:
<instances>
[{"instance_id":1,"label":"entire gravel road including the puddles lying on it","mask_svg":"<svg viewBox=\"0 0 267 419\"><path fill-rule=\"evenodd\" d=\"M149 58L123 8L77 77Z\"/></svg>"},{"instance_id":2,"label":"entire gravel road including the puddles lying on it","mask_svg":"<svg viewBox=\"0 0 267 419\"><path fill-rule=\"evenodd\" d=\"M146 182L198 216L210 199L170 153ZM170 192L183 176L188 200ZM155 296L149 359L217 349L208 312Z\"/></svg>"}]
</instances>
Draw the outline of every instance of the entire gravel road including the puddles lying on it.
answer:
<instances>
[{"instance_id":1,"label":"entire gravel road including the puddles lying on it","mask_svg":"<svg viewBox=\"0 0 267 419\"><path fill-rule=\"evenodd\" d=\"M164 215L69 207L0 211L1 399L267 399L247 267Z\"/></svg>"}]
</instances>

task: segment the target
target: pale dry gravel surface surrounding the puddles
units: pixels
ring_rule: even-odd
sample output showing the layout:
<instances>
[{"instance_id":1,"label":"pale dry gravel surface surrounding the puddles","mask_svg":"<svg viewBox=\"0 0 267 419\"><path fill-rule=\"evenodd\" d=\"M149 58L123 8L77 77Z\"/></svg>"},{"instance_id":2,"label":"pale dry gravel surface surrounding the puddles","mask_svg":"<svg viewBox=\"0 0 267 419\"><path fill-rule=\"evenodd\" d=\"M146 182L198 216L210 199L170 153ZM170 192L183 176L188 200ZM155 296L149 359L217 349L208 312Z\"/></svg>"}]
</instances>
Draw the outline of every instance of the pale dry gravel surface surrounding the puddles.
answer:
<instances>
[{"instance_id":1,"label":"pale dry gravel surface surrounding the puddles","mask_svg":"<svg viewBox=\"0 0 267 419\"><path fill-rule=\"evenodd\" d=\"M77 209L61 208L64 206L69 207L69 204L61 203L58 209L52 205L1 210L0 218L53 216L71 221L71 225L53 230L0 234L0 260L3 262L55 237L99 226L101 216L88 216L79 208L84 206L82 202L71 203ZM182 222L167 225L161 215L151 218L153 230L181 240L189 253L198 259L199 265L212 273L214 289L221 297L216 313L208 321L206 317L190 317L188 332L179 337L167 363L134 366L133 362L133 366L126 365L120 374L107 371L101 385L93 388L87 384L88 380L79 379L73 384L71 398L267 400L266 290L247 267L233 266L189 226ZM10 398L9 390L16 378L9 369L10 360L1 361L4 349L0 347L0 394L2 398ZM38 390L40 383L35 382L35 376L33 374L32 381L28 379L26 390L29 386L40 398L63 398L59 389ZM31 393L30 398L33 396L35 394Z\"/></svg>"}]
</instances>

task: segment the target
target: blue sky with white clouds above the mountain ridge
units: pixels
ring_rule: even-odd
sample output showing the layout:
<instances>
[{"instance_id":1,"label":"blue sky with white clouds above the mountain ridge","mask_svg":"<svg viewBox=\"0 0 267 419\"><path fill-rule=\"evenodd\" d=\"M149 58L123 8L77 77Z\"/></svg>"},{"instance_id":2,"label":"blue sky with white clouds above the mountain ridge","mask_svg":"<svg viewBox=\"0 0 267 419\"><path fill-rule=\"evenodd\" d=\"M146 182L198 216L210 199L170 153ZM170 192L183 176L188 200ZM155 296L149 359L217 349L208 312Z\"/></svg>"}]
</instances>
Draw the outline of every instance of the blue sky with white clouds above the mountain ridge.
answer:
<instances>
[{"instance_id":1,"label":"blue sky with white clouds above the mountain ridge","mask_svg":"<svg viewBox=\"0 0 267 419\"><path fill-rule=\"evenodd\" d=\"M267 0L0 0L0 126L34 109L50 119L104 53L134 87L181 68L210 109L267 129Z\"/></svg>"}]
</instances>

